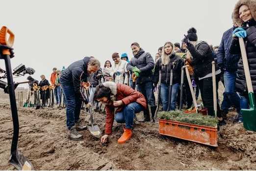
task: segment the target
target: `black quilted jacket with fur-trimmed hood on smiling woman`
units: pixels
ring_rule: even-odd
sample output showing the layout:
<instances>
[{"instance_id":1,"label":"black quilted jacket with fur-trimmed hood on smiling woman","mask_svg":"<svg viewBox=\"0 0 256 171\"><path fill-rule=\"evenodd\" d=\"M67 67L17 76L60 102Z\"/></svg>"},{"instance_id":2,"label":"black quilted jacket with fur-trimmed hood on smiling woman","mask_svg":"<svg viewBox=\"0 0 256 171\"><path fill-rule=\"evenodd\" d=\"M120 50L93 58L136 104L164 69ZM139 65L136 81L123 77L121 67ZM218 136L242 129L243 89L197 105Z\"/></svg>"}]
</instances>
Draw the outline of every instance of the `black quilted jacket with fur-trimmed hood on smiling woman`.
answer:
<instances>
[{"instance_id":1,"label":"black quilted jacket with fur-trimmed hood on smiling woman","mask_svg":"<svg viewBox=\"0 0 256 171\"><path fill-rule=\"evenodd\" d=\"M250 8L250 11L253 16L253 19L247 22L243 22L242 19L239 18L239 8L243 4L247 5ZM256 79L255 79L256 78L256 0L239 0L235 4L232 17L233 17L233 20L239 25L239 27L242 27L243 29L245 29L247 33L247 37L244 38L244 42L245 42L250 75L252 78L252 85L253 85L254 93L256 93ZM232 39L230 44L230 53L231 54L241 53L238 39ZM242 96L248 95L242 58L240 58L238 62L235 86L237 88L237 91L241 92Z\"/></svg>"}]
</instances>

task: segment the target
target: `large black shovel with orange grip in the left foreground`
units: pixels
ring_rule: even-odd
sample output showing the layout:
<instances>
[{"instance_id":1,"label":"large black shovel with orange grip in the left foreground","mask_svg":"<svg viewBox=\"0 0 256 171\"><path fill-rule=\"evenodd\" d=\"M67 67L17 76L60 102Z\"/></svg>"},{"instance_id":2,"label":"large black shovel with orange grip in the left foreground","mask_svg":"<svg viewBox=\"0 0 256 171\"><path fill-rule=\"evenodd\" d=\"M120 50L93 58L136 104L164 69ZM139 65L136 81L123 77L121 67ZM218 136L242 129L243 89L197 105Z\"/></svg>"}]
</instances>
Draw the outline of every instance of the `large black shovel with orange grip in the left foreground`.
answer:
<instances>
[{"instance_id":1,"label":"large black shovel with orange grip in the left foreground","mask_svg":"<svg viewBox=\"0 0 256 171\"><path fill-rule=\"evenodd\" d=\"M7 33L9 34L8 41L6 39ZM6 27L2 26L0 30L0 43L5 44L7 46L12 46L14 43L14 34ZM9 49L1 49L2 55L0 59L4 59L5 68L7 73L7 82L9 88L9 98L11 104L11 112L12 112L12 121L13 121L13 136L12 136L12 145L11 145L11 156L9 159L9 163L12 164L19 171L21 170L33 170L33 166L30 161L19 151L17 150L18 138L19 138L19 118L18 111L16 105L15 98L15 88L12 77L12 69L11 69L11 58L10 58L10 50Z\"/></svg>"}]
</instances>

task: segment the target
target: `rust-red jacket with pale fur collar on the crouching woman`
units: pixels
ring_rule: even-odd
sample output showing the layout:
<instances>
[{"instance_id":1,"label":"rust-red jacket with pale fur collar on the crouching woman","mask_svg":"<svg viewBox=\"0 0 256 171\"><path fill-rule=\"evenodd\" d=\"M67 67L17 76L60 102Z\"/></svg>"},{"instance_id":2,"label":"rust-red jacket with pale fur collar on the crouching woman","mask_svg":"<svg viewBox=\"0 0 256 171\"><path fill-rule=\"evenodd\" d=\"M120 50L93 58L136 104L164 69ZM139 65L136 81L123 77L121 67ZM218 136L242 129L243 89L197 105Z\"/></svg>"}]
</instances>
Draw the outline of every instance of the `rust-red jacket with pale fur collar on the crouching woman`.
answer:
<instances>
[{"instance_id":1,"label":"rust-red jacket with pale fur collar on the crouching woman","mask_svg":"<svg viewBox=\"0 0 256 171\"><path fill-rule=\"evenodd\" d=\"M122 100L123 106L120 106L116 109L116 112L124 109L125 106L132 102L137 102L146 108L146 99L142 93L132 89L128 85L115 84L114 82L105 82L103 83L105 87L109 87L111 93L116 97L116 101ZM113 122L115 118L115 107L106 105L106 125L105 125L105 134L111 134Z\"/></svg>"}]
</instances>

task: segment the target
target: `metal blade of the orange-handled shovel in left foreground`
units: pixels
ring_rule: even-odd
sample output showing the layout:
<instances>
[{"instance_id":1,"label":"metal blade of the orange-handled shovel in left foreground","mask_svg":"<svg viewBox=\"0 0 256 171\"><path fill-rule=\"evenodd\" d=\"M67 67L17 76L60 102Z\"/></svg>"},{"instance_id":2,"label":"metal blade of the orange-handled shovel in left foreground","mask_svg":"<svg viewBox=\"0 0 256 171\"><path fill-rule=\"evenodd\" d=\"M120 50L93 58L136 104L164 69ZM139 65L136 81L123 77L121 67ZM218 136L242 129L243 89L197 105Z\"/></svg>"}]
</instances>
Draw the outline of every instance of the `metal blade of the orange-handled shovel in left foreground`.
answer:
<instances>
[{"instance_id":1,"label":"metal blade of the orange-handled shovel in left foreground","mask_svg":"<svg viewBox=\"0 0 256 171\"><path fill-rule=\"evenodd\" d=\"M16 150L16 155L11 154L9 163L12 164L19 171L34 170L33 165L19 150Z\"/></svg>"}]
</instances>

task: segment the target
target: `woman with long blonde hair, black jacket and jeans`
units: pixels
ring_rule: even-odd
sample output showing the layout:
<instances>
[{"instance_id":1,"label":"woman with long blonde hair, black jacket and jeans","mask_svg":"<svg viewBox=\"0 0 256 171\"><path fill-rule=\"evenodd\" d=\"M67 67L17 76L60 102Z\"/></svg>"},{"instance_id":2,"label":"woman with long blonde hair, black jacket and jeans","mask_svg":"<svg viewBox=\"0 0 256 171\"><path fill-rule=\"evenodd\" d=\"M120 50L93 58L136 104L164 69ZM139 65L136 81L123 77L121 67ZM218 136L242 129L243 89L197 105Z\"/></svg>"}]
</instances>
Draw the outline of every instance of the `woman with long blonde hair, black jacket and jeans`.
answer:
<instances>
[{"instance_id":1,"label":"woman with long blonde hair, black jacket and jeans","mask_svg":"<svg viewBox=\"0 0 256 171\"><path fill-rule=\"evenodd\" d=\"M164 43L162 56L157 60L154 71L154 84L157 84L159 79L159 67L162 67L160 96L164 111L167 111L168 107L170 107L170 110L175 110L176 108L176 97L181 77L181 65L182 58L176 55L173 43ZM171 102L168 104L171 68L173 69L173 84Z\"/></svg>"}]
</instances>

